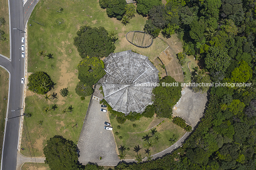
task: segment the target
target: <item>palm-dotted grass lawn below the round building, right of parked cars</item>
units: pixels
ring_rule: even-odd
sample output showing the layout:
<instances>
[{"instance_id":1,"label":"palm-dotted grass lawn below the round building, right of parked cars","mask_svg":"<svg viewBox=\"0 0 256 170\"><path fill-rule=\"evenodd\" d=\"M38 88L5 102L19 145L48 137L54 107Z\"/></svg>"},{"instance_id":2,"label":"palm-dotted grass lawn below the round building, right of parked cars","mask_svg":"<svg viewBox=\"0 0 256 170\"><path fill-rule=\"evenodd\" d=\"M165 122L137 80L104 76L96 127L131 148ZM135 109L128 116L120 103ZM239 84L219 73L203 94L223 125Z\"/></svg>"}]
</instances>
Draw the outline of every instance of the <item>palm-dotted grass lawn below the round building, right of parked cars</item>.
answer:
<instances>
[{"instance_id":1,"label":"palm-dotted grass lawn below the round building, right of parked cars","mask_svg":"<svg viewBox=\"0 0 256 170\"><path fill-rule=\"evenodd\" d=\"M159 142L155 141L155 138L150 134L149 141L152 141L153 147L149 147L151 155L156 154L160 151L163 151L171 146L171 142L169 139L172 137L173 134L177 137L177 141L186 133L181 127L178 127L174 123L171 122L171 119L164 119L163 122L157 122L159 118L152 117L152 118L140 118L140 121L137 120L135 122L131 122L126 120L125 123L119 124L115 118L110 119L111 126L113 126L113 132L115 136L115 140L117 143L117 147L119 148L120 145L125 145L126 148L130 148L129 151L125 151L126 158L125 159L135 159L137 153L133 151L134 147L139 144L142 149L139 151L142 157L146 157L145 149L148 148L146 145L148 142L142 140L142 137L145 134L150 134L151 130L148 130L152 127L155 127L157 132L155 135L159 135L160 139ZM155 122L152 124L151 122ZM160 123L159 125L157 125ZM136 124L136 127L133 127L133 124ZM120 129L117 129L117 125L120 125ZM145 131L148 130L148 131ZM145 132L143 132L145 131ZM115 132L119 134L116 135ZM122 139L119 139L119 136L122 136Z\"/></svg>"}]
</instances>

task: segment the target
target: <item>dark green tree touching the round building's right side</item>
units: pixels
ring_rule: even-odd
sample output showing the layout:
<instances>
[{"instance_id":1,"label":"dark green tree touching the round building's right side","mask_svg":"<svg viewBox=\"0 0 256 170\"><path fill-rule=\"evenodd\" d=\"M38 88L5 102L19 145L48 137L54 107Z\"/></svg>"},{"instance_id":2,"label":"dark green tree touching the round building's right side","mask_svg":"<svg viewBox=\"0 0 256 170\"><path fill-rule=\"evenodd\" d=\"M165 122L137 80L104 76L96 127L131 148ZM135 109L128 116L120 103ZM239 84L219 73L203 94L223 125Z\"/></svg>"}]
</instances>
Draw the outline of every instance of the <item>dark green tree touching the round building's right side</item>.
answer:
<instances>
[{"instance_id":1,"label":"dark green tree touching the round building's right side","mask_svg":"<svg viewBox=\"0 0 256 170\"><path fill-rule=\"evenodd\" d=\"M171 76L162 78L159 84L160 86L152 90L156 114L159 117L170 117L172 107L181 97L181 86Z\"/></svg>"}]
</instances>

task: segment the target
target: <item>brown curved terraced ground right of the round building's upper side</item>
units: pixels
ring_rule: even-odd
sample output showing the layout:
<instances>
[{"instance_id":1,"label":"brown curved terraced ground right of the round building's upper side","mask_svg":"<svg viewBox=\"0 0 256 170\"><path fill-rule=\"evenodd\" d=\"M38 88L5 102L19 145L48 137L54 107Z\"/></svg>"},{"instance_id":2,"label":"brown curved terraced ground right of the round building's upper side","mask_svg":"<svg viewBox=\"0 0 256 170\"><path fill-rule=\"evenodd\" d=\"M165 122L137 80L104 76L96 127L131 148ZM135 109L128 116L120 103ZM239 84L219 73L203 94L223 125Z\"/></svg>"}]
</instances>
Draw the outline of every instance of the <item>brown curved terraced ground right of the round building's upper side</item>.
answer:
<instances>
[{"instance_id":1,"label":"brown curved terraced ground right of the round building's upper side","mask_svg":"<svg viewBox=\"0 0 256 170\"><path fill-rule=\"evenodd\" d=\"M176 54L171 50L170 47L164 50L159 56L160 60L163 62L167 75L174 78L177 82L183 82L183 72L179 60L176 57Z\"/></svg>"}]
</instances>

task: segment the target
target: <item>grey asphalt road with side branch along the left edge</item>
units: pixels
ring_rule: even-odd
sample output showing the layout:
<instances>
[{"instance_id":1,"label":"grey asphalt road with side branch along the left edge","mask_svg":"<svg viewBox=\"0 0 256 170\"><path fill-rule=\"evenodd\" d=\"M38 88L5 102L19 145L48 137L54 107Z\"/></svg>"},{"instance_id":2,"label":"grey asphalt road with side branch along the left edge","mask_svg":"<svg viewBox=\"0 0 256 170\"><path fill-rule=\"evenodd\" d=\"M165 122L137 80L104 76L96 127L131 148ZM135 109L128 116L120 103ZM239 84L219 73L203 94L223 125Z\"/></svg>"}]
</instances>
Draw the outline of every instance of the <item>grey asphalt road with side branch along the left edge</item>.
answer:
<instances>
[{"instance_id":1,"label":"grey asphalt road with side branch along the left edge","mask_svg":"<svg viewBox=\"0 0 256 170\"><path fill-rule=\"evenodd\" d=\"M25 22L29 19L37 1L32 0L32 3L27 1L23 7L22 0L9 0L10 59L0 55L0 66L8 70L11 77L6 114L8 119L23 113L21 108L23 100L21 78L24 77L25 60L21 58L21 38L25 37L22 30L24 30ZM1 170L16 170L19 128L20 117L6 121Z\"/></svg>"}]
</instances>

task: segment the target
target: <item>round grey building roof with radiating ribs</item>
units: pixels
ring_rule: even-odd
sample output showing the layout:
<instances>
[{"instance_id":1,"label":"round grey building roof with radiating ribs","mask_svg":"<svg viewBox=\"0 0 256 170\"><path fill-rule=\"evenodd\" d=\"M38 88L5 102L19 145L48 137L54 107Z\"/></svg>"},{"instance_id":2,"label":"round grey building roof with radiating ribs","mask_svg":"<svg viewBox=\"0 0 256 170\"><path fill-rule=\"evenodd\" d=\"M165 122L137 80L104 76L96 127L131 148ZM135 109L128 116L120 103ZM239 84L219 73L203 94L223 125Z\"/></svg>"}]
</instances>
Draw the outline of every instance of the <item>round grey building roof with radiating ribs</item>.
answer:
<instances>
[{"instance_id":1,"label":"round grey building roof with radiating ribs","mask_svg":"<svg viewBox=\"0 0 256 170\"><path fill-rule=\"evenodd\" d=\"M106 75L99 80L104 99L117 112L142 113L152 104L152 89L159 82L158 70L148 57L131 50L111 53L103 60Z\"/></svg>"}]
</instances>

